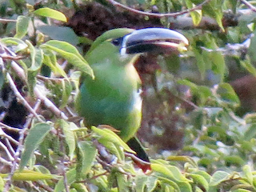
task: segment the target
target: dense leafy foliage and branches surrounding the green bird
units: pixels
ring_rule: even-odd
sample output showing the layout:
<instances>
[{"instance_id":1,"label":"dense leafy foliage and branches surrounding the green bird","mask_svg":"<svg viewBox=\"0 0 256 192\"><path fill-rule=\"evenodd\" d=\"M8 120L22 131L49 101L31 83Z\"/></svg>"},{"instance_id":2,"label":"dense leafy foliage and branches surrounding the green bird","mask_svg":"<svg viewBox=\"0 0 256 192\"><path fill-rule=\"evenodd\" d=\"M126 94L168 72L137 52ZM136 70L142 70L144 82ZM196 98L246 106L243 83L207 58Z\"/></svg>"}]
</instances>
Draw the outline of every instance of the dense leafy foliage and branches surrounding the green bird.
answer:
<instances>
[{"instance_id":1,"label":"dense leafy foliage and branches surrounding the green bird","mask_svg":"<svg viewBox=\"0 0 256 192\"><path fill-rule=\"evenodd\" d=\"M255 2L95 2L1 2L0 190L256 191ZM71 18L80 4L88 15ZM146 173L108 126L85 127L74 111L81 74L94 76L83 51L124 26L190 41L178 56L137 63Z\"/></svg>"}]
</instances>

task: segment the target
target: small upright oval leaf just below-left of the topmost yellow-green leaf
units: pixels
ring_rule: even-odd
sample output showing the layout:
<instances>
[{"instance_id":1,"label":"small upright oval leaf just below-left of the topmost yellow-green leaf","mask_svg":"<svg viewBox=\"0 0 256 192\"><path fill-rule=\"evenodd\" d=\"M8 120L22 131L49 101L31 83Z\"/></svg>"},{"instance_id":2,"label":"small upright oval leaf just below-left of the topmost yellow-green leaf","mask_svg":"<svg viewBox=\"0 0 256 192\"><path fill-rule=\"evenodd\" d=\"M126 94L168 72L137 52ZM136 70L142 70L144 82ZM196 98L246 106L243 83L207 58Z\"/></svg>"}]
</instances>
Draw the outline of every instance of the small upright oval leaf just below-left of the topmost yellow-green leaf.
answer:
<instances>
[{"instance_id":1,"label":"small upright oval leaf just below-left of the topmost yellow-green leaf","mask_svg":"<svg viewBox=\"0 0 256 192\"><path fill-rule=\"evenodd\" d=\"M23 15L18 16L16 22L16 34L14 35L14 38L23 38L26 35L29 22L30 18Z\"/></svg>"}]
</instances>

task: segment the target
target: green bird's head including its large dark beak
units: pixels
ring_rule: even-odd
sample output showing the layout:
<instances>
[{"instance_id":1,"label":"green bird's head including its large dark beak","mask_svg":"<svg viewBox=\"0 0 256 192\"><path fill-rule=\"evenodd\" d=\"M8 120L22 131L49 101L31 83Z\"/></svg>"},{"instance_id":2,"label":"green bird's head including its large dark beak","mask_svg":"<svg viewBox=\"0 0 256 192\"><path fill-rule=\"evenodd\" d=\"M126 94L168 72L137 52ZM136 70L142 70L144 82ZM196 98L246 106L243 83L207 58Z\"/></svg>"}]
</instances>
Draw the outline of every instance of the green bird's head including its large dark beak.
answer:
<instances>
[{"instance_id":1,"label":"green bird's head including its large dark beak","mask_svg":"<svg viewBox=\"0 0 256 192\"><path fill-rule=\"evenodd\" d=\"M112 55L113 57L114 54L117 54L118 57L126 58L129 55L143 53L170 54L177 50L186 50L188 44L189 42L184 35L174 30L164 28L146 28L142 30L120 28L108 30L98 37L87 55L95 52L94 58L99 58L97 54Z\"/></svg>"}]
</instances>

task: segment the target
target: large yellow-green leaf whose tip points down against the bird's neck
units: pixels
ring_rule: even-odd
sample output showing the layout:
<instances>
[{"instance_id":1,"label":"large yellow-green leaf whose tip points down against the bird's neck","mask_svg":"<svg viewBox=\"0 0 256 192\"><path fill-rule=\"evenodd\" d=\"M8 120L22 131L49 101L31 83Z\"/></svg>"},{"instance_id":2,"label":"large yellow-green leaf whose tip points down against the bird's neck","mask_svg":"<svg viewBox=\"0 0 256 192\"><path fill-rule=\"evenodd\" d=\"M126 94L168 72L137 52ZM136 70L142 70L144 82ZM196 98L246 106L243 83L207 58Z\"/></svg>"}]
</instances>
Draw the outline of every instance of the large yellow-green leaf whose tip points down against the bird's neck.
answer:
<instances>
[{"instance_id":1,"label":"large yellow-green leaf whose tip points down against the bird's neck","mask_svg":"<svg viewBox=\"0 0 256 192\"><path fill-rule=\"evenodd\" d=\"M79 54L78 50L69 43L51 40L42 44L40 47L46 50L54 50L68 62L78 67L78 70L81 70L82 73L89 74L94 78L93 70L90 68L89 64L82 58L82 55Z\"/></svg>"}]
</instances>

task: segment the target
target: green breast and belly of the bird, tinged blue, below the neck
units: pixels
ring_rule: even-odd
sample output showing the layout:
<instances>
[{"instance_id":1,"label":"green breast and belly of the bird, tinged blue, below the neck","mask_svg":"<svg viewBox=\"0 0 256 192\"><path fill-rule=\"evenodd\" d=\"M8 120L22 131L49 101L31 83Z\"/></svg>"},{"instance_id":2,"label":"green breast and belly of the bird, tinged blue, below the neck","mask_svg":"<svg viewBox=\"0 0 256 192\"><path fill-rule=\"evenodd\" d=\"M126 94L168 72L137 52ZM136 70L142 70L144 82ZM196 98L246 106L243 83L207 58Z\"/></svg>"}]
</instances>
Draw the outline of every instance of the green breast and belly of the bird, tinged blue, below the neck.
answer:
<instances>
[{"instance_id":1,"label":"green breast and belly of the bird, tinged blue, below the neck","mask_svg":"<svg viewBox=\"0 0 256 192\"><path fill-rule=\"evenodd\" d=\"M139 78L134 66L116 68L98 65L93 70L95 79L86 78L80 88L78 113L86 118L89 125L107 124L118 130L138 130L142 99L138 93Z\"/></svg>"}]
</instances>

